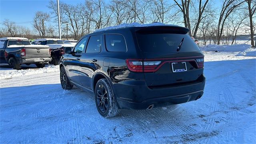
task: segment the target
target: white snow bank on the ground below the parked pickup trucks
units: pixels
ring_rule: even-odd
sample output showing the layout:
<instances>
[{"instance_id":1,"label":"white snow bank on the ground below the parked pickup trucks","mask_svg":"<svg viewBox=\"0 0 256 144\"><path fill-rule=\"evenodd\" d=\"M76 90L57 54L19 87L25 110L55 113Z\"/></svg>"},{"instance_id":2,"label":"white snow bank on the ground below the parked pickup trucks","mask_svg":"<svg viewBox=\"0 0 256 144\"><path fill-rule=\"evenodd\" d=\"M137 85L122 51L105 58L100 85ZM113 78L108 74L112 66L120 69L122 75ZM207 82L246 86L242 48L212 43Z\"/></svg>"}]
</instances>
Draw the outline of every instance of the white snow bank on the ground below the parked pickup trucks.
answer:
<instances>
[{"instance_id":1,"label":"white snow bank on the ground below the parked pickup trucks","mask_svg":"<svg viewBox=\"0 0 256 144\"><path fill-rule=\"evenodd\" d=\"M13 78L17 76L36 75L49 72L59 72L59 66L47 66L39 69L26 69L26 70L0 70L0 79Z\"/></svg>"}]
</instances>

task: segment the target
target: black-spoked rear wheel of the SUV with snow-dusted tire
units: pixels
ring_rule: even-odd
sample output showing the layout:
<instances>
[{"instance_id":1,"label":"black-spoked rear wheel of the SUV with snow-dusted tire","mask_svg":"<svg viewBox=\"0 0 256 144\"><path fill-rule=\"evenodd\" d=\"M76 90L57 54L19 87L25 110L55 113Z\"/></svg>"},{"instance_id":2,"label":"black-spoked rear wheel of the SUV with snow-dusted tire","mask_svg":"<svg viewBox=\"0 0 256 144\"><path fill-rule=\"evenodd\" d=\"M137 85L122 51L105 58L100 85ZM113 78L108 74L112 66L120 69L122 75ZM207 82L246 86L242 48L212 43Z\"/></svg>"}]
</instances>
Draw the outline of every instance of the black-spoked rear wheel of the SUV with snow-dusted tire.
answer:
<instances>
[{"instance_id":1,"label":"black-spoked rear wheel of the SUV with snow-dusted tire","mask_svg":"<svg viewBox=\"0 0 256 144\"><path fill-rule=\"evenodd\" d=\"M120 109L117 106L108 80L104 78L97 82L94 96L97 110L104 118L114 117L119 114Z\"/></svg>"}]
</instances>

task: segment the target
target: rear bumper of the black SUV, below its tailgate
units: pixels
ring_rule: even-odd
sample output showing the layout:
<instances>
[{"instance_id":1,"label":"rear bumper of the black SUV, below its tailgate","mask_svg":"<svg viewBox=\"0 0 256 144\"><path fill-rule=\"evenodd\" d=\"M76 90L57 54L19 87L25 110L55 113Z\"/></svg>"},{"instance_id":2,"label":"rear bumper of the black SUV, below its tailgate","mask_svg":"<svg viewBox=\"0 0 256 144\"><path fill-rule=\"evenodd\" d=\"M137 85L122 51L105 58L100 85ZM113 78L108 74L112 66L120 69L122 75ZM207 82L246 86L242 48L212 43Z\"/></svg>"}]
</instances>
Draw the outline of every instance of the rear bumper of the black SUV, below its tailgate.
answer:
<instances>
[{"instance_id":1,"label":"rear bumper of the black SUV, below its tailgate","mask_svg":"<svg viewBox=\"0 0 256 144\"><path fill-rule=\"evenodd\" d=\"M157 107L162 103L172 105L197 100L204 94L205 77L203 76L201 82L169 88L150 89L142 83L114 84L119 108L140 110L148 108L151 104Z\"/></svg>"}]
</instances>

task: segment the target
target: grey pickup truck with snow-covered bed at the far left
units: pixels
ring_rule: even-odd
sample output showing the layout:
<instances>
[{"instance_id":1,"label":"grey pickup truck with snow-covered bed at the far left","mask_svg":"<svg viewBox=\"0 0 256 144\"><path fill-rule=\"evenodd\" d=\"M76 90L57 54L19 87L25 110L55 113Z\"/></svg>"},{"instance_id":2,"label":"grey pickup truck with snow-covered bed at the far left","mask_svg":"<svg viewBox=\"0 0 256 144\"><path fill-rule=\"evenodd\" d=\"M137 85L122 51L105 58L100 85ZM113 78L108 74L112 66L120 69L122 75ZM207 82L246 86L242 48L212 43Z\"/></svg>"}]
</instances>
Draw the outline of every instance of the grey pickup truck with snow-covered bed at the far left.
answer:
<instances>
[{"instance_id":1,"label":"grey pickup truck with snow-covered bed at the far left","mask_svg":"<svg viewBox=\"0 0 256 144\"><path fill-rule=\"evenodd\" d=\"M49 46L31 45L27 38L0 38L0 63L7 63L16 70L21 64L43 68L51 60Z\"/></svg>"}]
</instances>

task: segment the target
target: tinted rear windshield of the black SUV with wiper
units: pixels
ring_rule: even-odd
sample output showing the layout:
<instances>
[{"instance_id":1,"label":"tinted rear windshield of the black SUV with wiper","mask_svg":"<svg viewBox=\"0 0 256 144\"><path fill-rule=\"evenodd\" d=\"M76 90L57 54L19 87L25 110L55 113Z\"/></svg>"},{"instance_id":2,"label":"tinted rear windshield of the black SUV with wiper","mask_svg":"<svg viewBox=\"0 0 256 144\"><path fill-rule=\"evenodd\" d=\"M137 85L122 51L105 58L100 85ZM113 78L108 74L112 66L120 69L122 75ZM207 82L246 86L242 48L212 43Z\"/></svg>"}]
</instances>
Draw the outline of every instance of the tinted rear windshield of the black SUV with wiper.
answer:
<instances>
[{"instance_id":1,"label":"tinted rear windshield of the black SUV with wiper","mask_svg":"<svg viewBox=\"0 0 256 144\"><path fill-rule=\"evenodd\" d=\"M182 39L184 38L183 42ZM178 52L197 52L200 48L188 34L137 34L138 44L144 53L168 55Z\"/></svg>"}]
</instances>

